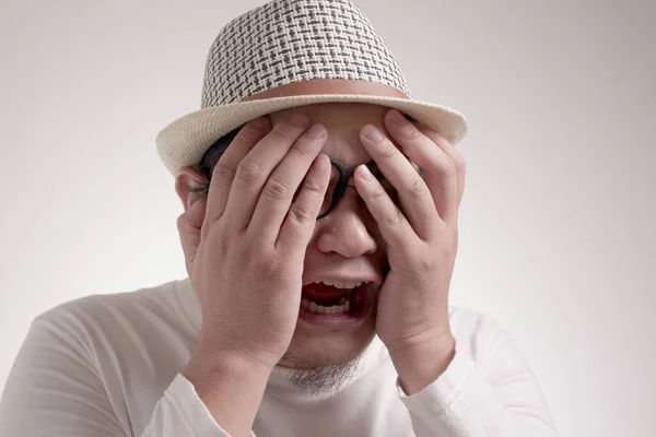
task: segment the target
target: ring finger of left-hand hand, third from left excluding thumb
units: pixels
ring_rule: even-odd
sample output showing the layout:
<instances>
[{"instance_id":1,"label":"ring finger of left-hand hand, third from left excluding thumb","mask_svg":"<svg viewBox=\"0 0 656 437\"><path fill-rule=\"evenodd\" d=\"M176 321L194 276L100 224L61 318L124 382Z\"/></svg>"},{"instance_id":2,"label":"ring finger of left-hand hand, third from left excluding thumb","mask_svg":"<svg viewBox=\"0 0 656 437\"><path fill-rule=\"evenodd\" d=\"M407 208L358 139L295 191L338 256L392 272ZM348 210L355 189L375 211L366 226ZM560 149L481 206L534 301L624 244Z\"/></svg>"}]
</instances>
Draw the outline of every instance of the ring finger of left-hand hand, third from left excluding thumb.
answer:
<instances>
[{"instance_id":1,"label":"ring finger of left-hand hand, third from left excluding thumb","mask_svg":"<svg viewBox=\"0 0 656 437\"><path fill-rule=\"evenodd\" d=\"M273 243L278 239L294 194L327 139L326 128L315 125L294 142L265 184L247 233L255 232Z\"/></svg>"}]
</instances>

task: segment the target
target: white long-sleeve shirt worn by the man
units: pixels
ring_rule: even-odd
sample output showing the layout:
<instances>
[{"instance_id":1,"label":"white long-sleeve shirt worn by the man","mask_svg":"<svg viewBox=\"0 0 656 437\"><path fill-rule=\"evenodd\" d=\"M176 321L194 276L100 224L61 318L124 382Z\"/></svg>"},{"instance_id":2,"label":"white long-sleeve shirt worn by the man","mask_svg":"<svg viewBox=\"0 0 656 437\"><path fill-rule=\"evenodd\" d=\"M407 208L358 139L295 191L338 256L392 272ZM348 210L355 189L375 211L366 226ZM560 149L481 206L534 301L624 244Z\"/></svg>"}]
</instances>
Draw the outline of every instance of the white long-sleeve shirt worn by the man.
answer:
<instances>
[{"instance_id":1,"label":"white long-sleeve shirt worn by the man","mask_svg":"<svg viewBox=\"0 0 656 437\"><path fill-rule=\"evenodd\" d=\"M11 437L227 436L181 375L198 338L190 281L90 296L37 317L0 401ZM456 355L406 395L375 338L355 376L328 397L300 391L276 368L253 426L257 437L557 435L534 375L485 317L452 309ZM426 356L426 359L431 359Z\"/></svg>"}]
</instances>

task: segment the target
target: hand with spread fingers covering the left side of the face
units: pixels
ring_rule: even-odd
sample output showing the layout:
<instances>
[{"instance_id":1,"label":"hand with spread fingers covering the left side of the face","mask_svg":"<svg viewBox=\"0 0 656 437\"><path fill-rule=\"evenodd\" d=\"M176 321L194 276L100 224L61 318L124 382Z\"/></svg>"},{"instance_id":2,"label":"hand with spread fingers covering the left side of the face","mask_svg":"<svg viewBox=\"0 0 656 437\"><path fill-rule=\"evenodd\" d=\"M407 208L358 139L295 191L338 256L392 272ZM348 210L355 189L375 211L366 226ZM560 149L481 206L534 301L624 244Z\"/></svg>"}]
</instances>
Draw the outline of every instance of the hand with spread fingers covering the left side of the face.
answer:
<instances>
[{"instance_id":1,"label":"hand with spread fingers covering the left side of the face","mask_svg":"<svg viewBox=\"0 0 656 437\"><path fill-rule=\"evenodd\" d=\"M216 164L207 200L178 220L206 361L272 369L290 345L305 250L330 176L328 157L317 157L326 129L308 125L305 115L272 130L267 118L247 125Z\"/></svg>"}]
</instances>

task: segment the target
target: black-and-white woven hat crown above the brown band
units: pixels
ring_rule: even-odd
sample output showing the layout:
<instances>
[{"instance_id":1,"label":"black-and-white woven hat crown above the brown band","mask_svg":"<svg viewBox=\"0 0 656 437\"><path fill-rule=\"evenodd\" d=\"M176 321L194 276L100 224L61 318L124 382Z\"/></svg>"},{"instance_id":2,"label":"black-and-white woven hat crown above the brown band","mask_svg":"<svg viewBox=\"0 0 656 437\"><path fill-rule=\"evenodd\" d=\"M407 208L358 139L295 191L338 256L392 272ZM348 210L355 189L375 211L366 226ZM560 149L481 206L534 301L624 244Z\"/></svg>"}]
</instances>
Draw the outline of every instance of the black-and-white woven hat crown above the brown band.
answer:
<instances>
[{"instance_id":1,"label":"black-and-white woven hat crown above the brown band","mask_svg":"<svg viewBox=\"0 0 656 437\"><path fill-rule=\"evenodd\" d=\"M410 96L394 55L353 2L274 0L223 27L208 55L201 106L313 79L377 82Z\"/></svg>"}]
</instances>

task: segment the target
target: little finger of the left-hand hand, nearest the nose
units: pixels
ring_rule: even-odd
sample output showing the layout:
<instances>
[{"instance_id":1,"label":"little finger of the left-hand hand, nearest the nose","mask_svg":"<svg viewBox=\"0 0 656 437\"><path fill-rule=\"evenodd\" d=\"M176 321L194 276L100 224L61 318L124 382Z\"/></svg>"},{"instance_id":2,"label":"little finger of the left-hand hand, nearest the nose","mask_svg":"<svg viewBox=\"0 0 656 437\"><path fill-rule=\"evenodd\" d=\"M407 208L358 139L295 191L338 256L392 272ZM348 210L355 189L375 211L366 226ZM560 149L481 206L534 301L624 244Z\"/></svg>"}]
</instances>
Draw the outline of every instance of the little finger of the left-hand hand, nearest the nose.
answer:
<instances>
[{"instance_id":1,"label":"little finger of the left-hand hand, nearest the nose","mask_svg":"<svg viewBox=\"0 0 656 437\"><path fill-rule=\"evenodd\" d=\"M280 228L277 247L286 253L304 250L312 238L324 196L330 181L330 160L321 154L314 161L294 204ZM304 252L303 252L304 253Z\"/></svg>"}]
</instances>

